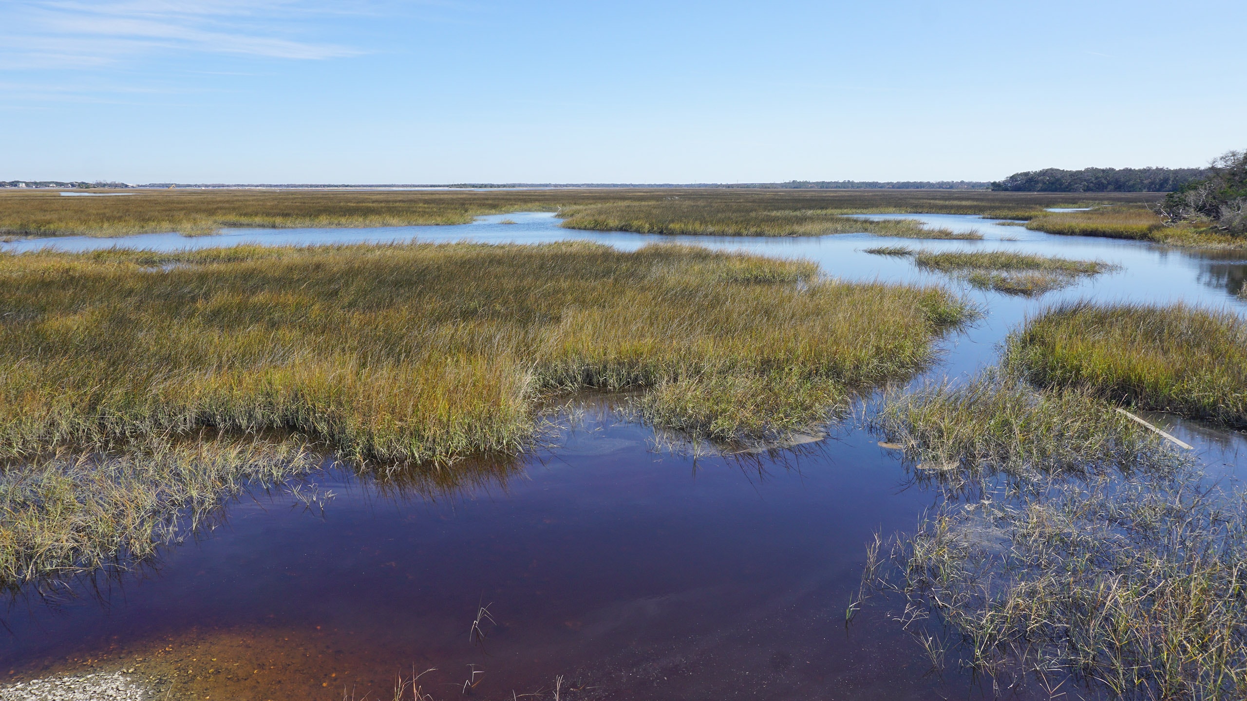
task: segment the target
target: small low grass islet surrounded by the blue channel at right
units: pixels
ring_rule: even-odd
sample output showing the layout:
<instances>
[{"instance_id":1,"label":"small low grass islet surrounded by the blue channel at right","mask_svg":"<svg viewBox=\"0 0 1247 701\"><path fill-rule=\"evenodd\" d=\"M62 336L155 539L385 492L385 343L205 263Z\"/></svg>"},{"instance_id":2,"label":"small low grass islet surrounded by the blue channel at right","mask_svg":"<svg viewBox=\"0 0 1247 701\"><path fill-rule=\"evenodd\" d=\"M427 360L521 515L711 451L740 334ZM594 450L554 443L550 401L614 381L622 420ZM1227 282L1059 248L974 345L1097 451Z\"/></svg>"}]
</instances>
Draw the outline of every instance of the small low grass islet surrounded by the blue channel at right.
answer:
<instances>
[{"instance_id":1,"label":"small low grass islet surrounded by the blue channel at right","mask_svg":"<svg viewBox=\"0 0 1247 701\"><path fill-rule=\"evenodd\" d=\"M1075 284L1082 277L1115 271L1102 261L1071 261L1009 251L919 251L914 263L965 279L979 289L1035 297Z\"/></svg>"}]
</instances>

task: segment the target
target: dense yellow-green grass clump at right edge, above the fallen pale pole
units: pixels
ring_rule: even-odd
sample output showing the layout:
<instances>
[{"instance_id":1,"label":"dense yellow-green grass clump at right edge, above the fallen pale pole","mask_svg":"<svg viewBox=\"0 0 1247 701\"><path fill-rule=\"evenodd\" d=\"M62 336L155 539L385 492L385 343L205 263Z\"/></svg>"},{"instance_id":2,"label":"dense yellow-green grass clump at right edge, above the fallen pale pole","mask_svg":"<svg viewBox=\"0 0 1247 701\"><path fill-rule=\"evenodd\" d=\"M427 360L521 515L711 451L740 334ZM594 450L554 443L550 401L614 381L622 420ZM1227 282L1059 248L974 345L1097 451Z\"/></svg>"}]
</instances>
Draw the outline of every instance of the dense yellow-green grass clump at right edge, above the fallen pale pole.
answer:
<instances>
[{"instance_id":1,"label":"dense yellow-green grass clump at right edge, above the fallen pale pole","mask_svg":"<svg viewBox=\"0 0 1247 701\"><path fill-rule=\"evenodd\" d=\"M1060 304L1008 341L1011 372L1143 409L1247 427L1247 321L1186 304Z\"/></svg>"}]
</instances>

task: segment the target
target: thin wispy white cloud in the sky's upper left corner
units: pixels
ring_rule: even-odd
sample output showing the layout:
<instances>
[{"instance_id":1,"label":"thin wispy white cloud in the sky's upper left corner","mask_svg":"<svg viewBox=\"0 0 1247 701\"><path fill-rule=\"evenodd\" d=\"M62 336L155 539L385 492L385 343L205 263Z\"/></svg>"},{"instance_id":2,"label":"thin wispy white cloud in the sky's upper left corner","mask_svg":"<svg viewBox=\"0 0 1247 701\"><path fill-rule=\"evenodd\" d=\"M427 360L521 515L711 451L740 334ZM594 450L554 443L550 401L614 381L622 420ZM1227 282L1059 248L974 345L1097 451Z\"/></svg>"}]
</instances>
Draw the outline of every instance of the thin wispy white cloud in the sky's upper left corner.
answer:
<instances>
[{"instance_id":1,"label":"thin wispy white cloud in the sky's upper left corner","mask_svg":"<svg viewBox=\"0 0 1247 701\"><path fill-rule=\"evenodd\" d=\"M320 60L358 49L307 36L308 19L342 14L309 0L17 0L4 4L0 67L90 67L158 52Z\"/></svg>"}]
</instances>

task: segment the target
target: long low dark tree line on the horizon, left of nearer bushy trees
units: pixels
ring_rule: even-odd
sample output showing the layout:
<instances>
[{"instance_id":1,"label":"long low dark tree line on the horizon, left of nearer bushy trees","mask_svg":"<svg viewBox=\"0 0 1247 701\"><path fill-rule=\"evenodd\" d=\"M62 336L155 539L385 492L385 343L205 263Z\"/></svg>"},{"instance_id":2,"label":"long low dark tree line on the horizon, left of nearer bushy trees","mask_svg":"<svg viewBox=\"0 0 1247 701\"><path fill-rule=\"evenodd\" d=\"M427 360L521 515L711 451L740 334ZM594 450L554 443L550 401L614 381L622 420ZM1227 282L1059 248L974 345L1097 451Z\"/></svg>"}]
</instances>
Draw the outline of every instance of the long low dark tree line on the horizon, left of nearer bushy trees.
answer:
<instances>
[{"instance_id":1,"label":"long low dark tree line on the horizon, left of nearer bushy trees","mask_svg":"<svg viewBox=\"0 0 1247 701\"><path fill-rule=\"evenodd\" d=\"M1044 168L991 183L1004 192L1172 192L1206 177L1207 168Z\"/></svg>"}]
</instances>

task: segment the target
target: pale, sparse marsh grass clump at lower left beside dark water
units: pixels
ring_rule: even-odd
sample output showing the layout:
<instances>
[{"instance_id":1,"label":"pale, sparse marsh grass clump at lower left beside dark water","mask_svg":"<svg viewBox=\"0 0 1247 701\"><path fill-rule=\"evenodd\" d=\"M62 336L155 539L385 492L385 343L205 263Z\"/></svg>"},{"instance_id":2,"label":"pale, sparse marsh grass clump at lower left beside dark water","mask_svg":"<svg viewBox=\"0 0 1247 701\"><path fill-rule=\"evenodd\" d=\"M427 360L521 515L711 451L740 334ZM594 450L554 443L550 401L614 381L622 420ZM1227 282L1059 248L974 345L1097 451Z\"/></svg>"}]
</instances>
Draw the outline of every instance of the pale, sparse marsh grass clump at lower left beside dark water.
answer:
<instances>
[{"instance_id":1,"label":"pale, sparse marsh grass clump at lower left beside dark water","mask_svg":"<svg viewBox=\"0 0 1247 701\"><path fill-rule=\"evenodd\" d=\"M127 568L193 534L244 488L317 464L298 445L217 435L9 465L0 473L0 585Z\"/></svg>"}]
</instances>

